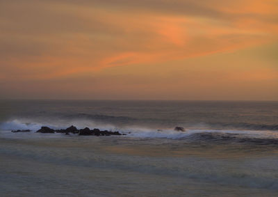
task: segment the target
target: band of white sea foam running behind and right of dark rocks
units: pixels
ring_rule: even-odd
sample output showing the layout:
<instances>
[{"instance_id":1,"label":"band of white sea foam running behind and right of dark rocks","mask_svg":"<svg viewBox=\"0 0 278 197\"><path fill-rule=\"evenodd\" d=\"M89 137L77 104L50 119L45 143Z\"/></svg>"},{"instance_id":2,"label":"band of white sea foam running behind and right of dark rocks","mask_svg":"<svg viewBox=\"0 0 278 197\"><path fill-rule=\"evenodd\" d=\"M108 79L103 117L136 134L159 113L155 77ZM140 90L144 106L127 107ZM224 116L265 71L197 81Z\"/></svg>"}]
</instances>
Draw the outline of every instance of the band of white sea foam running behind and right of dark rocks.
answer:
<instances>
[{"instance_id":1,"label":"band of white sea foam running behind and right of dark rocks","mask_svg":"<svg viewBox=\"0 0 278 197\"><path fill-rule=\"evenodd\" d=\"M186 129L186 132L177 132L173 128L166 129L152 129L148 127L115 127L111 124L100 124L88 120L71 120L71 121L57 121L40 123L27 119L15 119L4 123L0 123L0 130L16 130L16 129L30 129L35 132L42 126L51 127L53 129L65 129L70 125L74 125L81 129L89 127L90 129L98 128L101 130L119 131L123 134L127 134L129 137L137 138L164 138L164 139L183 139L193 134L198 133L220 133L220 134L240 134L250 138L257 139L278 139L278 132L275 131L259 131L259 130L233 130L233 129Z\"/></svg>"}]
</instances>

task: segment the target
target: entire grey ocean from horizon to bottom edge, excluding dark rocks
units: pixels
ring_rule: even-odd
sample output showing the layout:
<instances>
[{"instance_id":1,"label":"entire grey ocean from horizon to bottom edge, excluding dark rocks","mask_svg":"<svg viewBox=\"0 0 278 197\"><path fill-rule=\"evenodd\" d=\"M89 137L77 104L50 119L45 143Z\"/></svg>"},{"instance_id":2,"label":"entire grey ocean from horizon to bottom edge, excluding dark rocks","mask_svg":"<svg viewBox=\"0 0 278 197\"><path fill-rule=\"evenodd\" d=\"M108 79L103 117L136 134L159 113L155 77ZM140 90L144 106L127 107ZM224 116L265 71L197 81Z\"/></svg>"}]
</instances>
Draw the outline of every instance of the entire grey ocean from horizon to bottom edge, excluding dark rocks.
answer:
<instances>
[{"instance_id":1,"label":"entire grey ocean from horizon to bottom edge, excluding dark rocks","mask_svg":"<svg viewBox=\"0 0 278 197\"><path fill-rule=\"evenodd\" d=\"M126 136L35 133L70 125ZM277 196L278 102L1 100L0 183L0 196Z\"/></svg>"}]
</instances>

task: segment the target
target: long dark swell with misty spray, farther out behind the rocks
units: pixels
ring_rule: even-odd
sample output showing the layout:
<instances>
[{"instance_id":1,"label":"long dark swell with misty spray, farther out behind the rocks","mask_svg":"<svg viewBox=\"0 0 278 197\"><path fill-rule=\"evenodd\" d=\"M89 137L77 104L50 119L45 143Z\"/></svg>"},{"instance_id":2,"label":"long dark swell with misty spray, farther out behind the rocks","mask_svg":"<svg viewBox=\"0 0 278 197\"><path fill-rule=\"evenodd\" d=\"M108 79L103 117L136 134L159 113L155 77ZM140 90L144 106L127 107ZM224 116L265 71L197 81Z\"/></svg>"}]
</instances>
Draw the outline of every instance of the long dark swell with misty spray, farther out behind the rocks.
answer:
<instances>
[{"instance_id":1,"label":"long dark swell with misty spray, farther out behind the rocks","mask_svg":"<svg viewBox=\"0 0 278 197\"><path fill-rule=\"evenodd\" d=\"M114 116L111 114L101 114L101 113L81 113L79 112L53 112L53 111L36 111L34 113L21 114L19 116L10 117L9 120L23 120L24 122L39 122L49 125L58 125L60 126L63 123L79 124L80 127L93 127L93 126L102 126L102 125L111 125L111 127L129 127L132 125L139 125L139 127L152 127L158 129L165 129L167 127L186 127L190 129L240 129L240 130L264 130L264 131L278 131L278 124L274 121L271 122L251 122L251 120L246 120L243 122L237 122L233 120L217 120L213 118L205 118L204 121L193 120L194 118L167 118L167 116L140 116L137 117L129 116L129 113L126 116ZM216 121L215 121L216 120ZM196 121L196 122L195 122ZM250 122L249 122L250 121ZM83 125L82 125L83 124ZM65 124L64 124L65 125ZM66 125L66 126L67 126ZM110 128L111 128L110 127ZM161 127L161 128L159 128Z\"/></svg>"}]
</instances>

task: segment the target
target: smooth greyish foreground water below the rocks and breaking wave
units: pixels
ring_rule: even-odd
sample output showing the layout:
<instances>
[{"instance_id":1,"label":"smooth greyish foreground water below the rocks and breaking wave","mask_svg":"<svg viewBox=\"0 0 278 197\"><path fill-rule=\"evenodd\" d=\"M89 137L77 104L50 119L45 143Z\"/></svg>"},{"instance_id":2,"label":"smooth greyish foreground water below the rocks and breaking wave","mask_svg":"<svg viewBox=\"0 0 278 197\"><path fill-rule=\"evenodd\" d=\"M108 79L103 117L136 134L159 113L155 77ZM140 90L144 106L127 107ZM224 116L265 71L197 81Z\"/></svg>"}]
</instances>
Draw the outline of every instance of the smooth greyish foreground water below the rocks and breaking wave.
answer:
<instances>
[{"instance_id":1,"label":"smooth greyish foreground water below the rocks and breaking wave","mask_svg":"<svg viewBox=\"0 0 278 197\"><path fill-rule=\"evenodd\" d=\"M0 142L1 194L272 196L278 191L277 147L60 134L0 136Z\"/></svg>"}]
</instances>

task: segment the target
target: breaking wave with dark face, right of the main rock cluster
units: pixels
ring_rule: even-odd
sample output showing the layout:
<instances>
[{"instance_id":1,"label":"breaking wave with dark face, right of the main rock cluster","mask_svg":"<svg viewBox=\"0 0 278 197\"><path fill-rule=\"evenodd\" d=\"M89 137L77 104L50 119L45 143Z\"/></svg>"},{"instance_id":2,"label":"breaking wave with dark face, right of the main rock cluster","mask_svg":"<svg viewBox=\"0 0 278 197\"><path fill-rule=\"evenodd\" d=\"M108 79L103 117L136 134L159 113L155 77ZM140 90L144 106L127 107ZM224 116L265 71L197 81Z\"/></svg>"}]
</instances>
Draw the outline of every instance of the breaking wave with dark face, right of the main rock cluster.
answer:
<instances>
[{"instance_id":1,"label":"breaking wave with dark face, right of the main rock cluster","mask_svg":"<svg viewBox=\"0 0 278 197\"><path fill-rule=\"evenodd\" d=\"M173 130L154 131L148 129L129 129L129 136L139 138L177 139L189 143L256 143L277 144L278 132L224 130L224 129L187 129L186 132Z\"/></svg>"}]
</instances>

